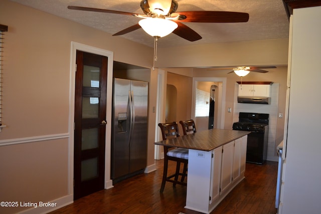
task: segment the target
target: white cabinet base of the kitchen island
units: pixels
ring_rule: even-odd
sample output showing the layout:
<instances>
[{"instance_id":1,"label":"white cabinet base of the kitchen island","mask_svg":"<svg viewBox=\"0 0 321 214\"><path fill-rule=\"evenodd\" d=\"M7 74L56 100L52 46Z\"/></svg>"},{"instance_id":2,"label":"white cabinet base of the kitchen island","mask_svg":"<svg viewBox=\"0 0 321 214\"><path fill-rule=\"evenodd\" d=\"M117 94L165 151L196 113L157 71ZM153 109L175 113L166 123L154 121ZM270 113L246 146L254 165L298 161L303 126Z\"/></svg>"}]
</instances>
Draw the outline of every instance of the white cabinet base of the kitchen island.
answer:
<instances>
[{"instance_id":1,"label":"white cabinet base of the kitchen island","mask_svg":"<svg viewBox=\"0 0 321 214\"><path fill-rule=\"evenodd\" d=\"M212 151L189 149L185 208L210 213L244 178L247 136Z\"/></svg>"}]
</instances>

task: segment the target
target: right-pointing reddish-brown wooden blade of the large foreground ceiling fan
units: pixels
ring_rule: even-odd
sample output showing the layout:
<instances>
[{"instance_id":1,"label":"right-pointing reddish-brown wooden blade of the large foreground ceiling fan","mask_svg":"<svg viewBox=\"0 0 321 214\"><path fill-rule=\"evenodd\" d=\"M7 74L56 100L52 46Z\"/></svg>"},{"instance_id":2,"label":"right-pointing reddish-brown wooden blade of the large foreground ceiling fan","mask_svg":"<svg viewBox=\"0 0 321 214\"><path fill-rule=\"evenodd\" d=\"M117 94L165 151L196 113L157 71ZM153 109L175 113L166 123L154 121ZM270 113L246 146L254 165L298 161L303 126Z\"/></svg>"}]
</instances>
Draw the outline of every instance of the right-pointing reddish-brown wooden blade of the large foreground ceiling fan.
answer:
<instances>
[{"instance_id":1,"label":"right-pointing reddish-brown wooden blade of the large foreground ceiling fan","mask_svg":"<svg viewBox=\"0 0 321 214\"><path fill-rule=\"evenodd\" d=\"M196 23L236 23L247 22L249 14L226 11L184 11L173 13L172 16L185 16L186 19L178 22L196 22Z\"/></svg>"}]
</instances>

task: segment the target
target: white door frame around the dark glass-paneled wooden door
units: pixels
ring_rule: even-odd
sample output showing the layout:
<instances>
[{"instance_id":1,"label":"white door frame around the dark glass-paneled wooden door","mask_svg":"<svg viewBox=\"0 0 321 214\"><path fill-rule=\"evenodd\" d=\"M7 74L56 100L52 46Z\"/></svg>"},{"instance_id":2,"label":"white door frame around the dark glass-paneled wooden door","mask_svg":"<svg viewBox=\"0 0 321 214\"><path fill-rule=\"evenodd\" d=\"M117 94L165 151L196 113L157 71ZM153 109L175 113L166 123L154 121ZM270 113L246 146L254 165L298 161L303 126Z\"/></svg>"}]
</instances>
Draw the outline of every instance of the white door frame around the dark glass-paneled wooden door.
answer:
<instances>
[{"instance_id":1,"label":"white door frame around the dark glass-paneled wooden door","mask_svg":"<svg viewBox=\"0 0 321 214\"><path fill-rule=\"evenodd\" d=\"M112 71L114 53L100 48L71 42L70 53L70 88L69 88L69 142L68 142L68 190L69 194L74 193L74 118L75 118L75 84L76 84L76 51L83 51L92 54L108 57L107 64L107 97L106 97L106 139L105 139L105 178L104 187L113 187L110 179L110 146L111 146L111 108L112 108ZM108 93L109 92L109 93Z\"/></svg>"}]
</instances>

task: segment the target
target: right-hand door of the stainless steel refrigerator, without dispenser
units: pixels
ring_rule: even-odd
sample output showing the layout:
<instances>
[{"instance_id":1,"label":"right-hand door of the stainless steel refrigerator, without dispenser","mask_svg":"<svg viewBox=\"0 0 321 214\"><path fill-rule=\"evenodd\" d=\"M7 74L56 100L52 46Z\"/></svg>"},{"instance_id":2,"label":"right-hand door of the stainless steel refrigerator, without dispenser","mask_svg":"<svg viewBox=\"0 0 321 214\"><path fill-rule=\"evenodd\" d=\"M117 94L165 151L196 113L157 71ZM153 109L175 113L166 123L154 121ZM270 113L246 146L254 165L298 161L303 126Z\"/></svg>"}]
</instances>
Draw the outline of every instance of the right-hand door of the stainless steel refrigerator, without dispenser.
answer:
<instances>
[{"instance_id":1,"label":"right-hand door of the stainless steel refrigerator, without dispenser","mask_svg":"<svg viewBox=\"0 0 321 214\"><path fill-rule=\"evenodd\" d=\"M130 137L129 173L146 167L148 83L131 81L131 96L133 124Z\"/></svg>"}]
</instances>

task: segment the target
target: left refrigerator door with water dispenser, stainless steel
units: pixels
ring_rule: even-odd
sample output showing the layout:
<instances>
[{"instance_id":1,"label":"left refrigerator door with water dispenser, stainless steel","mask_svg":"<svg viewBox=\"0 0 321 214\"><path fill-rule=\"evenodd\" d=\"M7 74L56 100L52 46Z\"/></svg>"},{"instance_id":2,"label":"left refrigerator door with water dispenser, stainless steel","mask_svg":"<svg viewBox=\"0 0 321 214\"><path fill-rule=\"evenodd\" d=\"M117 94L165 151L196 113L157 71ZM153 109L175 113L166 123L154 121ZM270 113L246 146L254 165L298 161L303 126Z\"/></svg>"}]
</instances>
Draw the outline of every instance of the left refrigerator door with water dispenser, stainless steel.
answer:
<instances>
[{"instance_id":1,"label":"left refrigerator door with water dispenser, stainless steel","mask_svg":"<svg viewBox=\"0 0 321 214\"><path fill-rule=\"evenodd\" d=\"M111 132L111 178L129 171L130 80L114 79Z\"/></svg>"}]
</instances>

